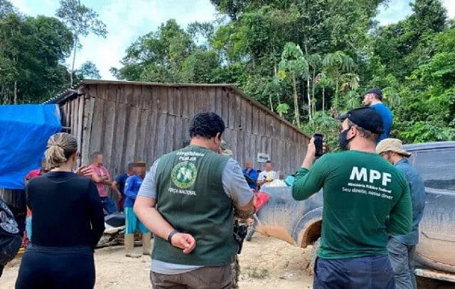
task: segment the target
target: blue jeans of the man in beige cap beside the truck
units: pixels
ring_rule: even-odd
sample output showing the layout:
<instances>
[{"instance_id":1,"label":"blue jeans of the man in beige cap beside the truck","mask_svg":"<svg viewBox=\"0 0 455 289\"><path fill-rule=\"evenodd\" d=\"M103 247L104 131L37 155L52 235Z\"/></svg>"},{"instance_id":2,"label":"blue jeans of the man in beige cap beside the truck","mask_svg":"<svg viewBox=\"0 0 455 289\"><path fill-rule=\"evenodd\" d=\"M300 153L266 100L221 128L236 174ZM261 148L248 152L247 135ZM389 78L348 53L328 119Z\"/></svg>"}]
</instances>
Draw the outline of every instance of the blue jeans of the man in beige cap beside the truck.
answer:
<instances>
[{"instance_id":1,"label":"blue jeans of the man in beige cap beside the truck","mask_svg":"<svg viewBox=\"0 0 455 289\"><path fill-rule=\"evenodd\" d=\"M406 245L393 237L387 244L390 263L395 273L397 289L416 289L417 283L414 276L414 245Z\"/></svg>"}]
</instances>

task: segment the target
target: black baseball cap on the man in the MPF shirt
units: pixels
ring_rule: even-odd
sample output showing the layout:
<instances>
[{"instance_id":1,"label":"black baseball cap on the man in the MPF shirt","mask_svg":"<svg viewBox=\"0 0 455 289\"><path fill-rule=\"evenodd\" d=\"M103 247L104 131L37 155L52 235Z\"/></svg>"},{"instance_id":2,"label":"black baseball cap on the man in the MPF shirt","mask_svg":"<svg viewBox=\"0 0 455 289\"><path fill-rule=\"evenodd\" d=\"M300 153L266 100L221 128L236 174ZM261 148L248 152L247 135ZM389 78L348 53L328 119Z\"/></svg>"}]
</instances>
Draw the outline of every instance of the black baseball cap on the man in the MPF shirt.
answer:
<instances>
[{"instance_id":1,"label":"black baseball cap on the man in the MPF shirt","mask_svg":"<svg viewBox=\"0 0 455 289\"><path fill-rule=\"evenodd\" d=\"M338 116L337 119L344 121L349 119L356 126L360 126L362 129L371 131L372 133L381 135L384 132L384 122L382 121L381 115L372 107L360 107L353 109L347 114Z\"/></svg>"}]
</instances>

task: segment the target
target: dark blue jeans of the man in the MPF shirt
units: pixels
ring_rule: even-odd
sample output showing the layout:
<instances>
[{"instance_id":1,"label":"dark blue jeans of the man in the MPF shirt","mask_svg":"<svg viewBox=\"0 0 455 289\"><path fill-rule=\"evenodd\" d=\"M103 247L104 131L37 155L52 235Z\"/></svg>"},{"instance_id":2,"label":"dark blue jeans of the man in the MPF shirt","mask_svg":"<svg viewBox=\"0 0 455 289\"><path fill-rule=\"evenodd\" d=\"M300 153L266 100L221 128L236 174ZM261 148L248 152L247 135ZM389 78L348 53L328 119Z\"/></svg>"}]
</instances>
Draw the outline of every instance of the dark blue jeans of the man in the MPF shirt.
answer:
<instances>
[{"instance_id":1,"label":"dark blue jeans of the man in the MPF shirt","mask_svg":"<svg viewBox=\"0 0 455 289\"><path fill-rule=\"evenodd\" d=\"M314 289L395 289L389 256L317 258Z\"/></svg>"}]
</instances>

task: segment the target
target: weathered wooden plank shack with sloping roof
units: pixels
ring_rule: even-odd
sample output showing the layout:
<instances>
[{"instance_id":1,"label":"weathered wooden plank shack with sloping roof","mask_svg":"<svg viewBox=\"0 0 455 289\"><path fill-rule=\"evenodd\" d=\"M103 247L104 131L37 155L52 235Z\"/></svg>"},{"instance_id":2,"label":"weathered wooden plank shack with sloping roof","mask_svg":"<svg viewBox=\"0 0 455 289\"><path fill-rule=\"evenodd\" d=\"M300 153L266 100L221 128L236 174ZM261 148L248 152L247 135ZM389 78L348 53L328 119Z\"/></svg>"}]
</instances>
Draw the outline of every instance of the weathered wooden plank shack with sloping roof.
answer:
<instances>
[{"instance_id":1,"label":"weathered wooden plank shack with sloping roof","mask_svg":"<svg viewBox=\"0 0 455 289\"><path fill-rule=\"evenodd\" d=\"M247 97L233 84L161 84L83 80L50 99L60 105L63 126L80 143L83 164L95 151L112 175L127 163L148 165L189 139L188 125L200 111L215 111L226 124L224 139L243 165L270 156L274 170L294 173L309 137L296 126Z\"/></svg>"}]
</instances>

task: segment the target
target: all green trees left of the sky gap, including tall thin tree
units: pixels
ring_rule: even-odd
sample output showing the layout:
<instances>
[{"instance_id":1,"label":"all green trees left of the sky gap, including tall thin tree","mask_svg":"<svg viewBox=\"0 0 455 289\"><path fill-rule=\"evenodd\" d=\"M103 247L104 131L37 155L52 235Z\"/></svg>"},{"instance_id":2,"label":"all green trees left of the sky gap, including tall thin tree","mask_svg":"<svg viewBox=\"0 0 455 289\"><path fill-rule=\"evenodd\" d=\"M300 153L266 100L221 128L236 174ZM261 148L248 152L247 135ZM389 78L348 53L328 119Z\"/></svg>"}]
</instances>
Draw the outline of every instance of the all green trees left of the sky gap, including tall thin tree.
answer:
<instances>
[{"instance_id":1,"label":"all green trees left of the sky gap, including tall thin tree","mask_svg":"<svg viewBox=\"0 0 455 289\"><path fill-rule=\"evenodd\" d=\"M76 79L100 78L92 62L74 73L68 72L64 63L77 48L79 37L87 36L92 26L101 26L101 30L104 26L87 7L68 6L77 1L60 2L59 14L64 22L24 16L9 1L0 0L0 104L43 102L68 88L74 75ZM77 13L85 15L77 20L82 21L82 28L77 28L77 21L71 22L69 15Z\"/></svg>"}]
</instances>

